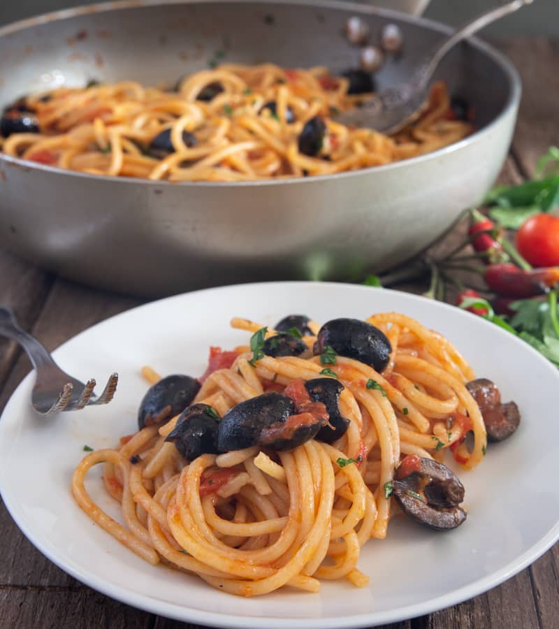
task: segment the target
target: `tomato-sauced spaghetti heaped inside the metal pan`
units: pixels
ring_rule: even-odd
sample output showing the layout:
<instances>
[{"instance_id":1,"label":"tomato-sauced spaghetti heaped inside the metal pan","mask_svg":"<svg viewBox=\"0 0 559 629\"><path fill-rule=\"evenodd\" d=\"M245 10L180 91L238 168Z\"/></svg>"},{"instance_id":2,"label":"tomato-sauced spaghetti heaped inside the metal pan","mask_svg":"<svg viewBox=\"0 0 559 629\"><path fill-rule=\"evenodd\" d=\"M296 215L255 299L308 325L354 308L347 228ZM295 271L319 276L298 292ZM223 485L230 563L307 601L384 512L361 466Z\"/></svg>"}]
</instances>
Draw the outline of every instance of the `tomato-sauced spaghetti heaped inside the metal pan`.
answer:
<instances>
[{"instance_id":1,"label":"tomato-sauced spaghetti heaped inside the metal pan","mask_svg":"<svg viewBox=\"0 0 559 629\"><path fill-rule=\"evenodd\" d=\"M204 97L216 85L221 92ZM366 96L326 68L222 65L184 78L177 92L118 82L27 96L39 133L13 133L4 153L95 175L180 181L243 181L328 175L415 157L472 131L451 115L444 84L433 86L421 118L394 137L351 129L331 117ZM205 100L201 100L205 98ZM273 108L266 107L274 103ZM17 110L15 110L17 115ZM293 121L291 121L291 116ZM317 154L300 152L305 122L321 117ZM289 119L289 123L288 123ZM150 143L170 130L170 150ZM189 142L183 133L192 133ZM194 145L194 141L196 144Z\"/></svg>"}]
</instances>

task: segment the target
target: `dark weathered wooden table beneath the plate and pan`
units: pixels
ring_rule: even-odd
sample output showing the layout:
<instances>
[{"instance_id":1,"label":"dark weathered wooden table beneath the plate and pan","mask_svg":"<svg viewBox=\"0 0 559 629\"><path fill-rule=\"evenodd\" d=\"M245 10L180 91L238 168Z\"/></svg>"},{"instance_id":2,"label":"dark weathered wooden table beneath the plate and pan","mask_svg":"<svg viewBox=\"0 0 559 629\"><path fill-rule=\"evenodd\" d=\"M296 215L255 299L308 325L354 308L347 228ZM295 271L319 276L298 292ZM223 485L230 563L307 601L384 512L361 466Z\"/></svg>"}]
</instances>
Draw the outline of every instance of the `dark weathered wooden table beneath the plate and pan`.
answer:
<instances>
[{"instance_id":1,"label":"dark weathered wooden table beneath the plate and pan","mask_svg":"<svg viewBox=\"0 0 559 629\"><path fill-rule=\"evenodd\" d=\"M514 143L501 175L504 182L518 182L533 173L537 157L549 145L559 145L559 40L513 41L500 48L516 64L524 85ZM142 303L67 282L2 250L0 277L0 303L13 307L24 328L48 349ZM420 285L406 288L425 289ZM29 368L22 350L0 339L0 410ZM75 581L31 546L3 505L0 530L0 628L194 627L140 612ZM391 629L488 627L559 628L559 544L488 593L391 625Z\"/></svg>"}]
</instances>

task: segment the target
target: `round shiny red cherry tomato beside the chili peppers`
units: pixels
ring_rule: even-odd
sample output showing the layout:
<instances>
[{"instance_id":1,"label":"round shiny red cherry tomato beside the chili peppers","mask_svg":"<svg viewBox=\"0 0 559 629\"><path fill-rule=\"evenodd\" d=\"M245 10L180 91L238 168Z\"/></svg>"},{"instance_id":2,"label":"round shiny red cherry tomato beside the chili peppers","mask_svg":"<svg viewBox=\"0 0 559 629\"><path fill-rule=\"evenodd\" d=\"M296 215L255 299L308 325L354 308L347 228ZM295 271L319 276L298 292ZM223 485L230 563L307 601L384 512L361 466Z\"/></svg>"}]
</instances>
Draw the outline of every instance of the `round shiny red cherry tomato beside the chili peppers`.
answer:
<instances>
[{"instance_id":1,"label":"round shiny red cherry tomato beside the chili peppers","mask_svg":"<svg viewBox=\"0 0 559 629\"><path fill-rule=\"evenodd\" d=\"M532 266L559 266L559 218L531 216L516 232L516 248Z\"/></svg>"}]
</instances>

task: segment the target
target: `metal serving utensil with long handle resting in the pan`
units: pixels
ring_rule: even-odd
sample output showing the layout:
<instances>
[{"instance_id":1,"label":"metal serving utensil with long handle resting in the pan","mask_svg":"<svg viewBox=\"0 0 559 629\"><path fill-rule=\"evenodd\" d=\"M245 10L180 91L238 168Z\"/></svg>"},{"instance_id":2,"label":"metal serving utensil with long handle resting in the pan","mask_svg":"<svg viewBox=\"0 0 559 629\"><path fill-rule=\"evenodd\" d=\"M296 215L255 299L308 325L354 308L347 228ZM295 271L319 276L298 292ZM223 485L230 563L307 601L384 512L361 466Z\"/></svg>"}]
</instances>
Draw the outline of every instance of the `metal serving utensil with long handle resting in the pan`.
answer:
<instances>
[{"instance_id":1,"label":"metal serving utensil with long handle resting in the pan","mask_svg":"<svg viewBox=\"0 0 559 629\"><path fill-rule=\"evenodd\" d=\"M341 124L370 127L383 133L397 133L407 124L414 122L428 105L428 87L433 74L447 52L453 45L464 38L499 20L504 15L514 13L519 8L531 4L533 0L513 0L501 6L484 11L470 22L463 24L427 57L412 77L396 87L383 89L372 99L365 101L361 107L349 110L336 116Z\"/></svg>"}]
</instances>

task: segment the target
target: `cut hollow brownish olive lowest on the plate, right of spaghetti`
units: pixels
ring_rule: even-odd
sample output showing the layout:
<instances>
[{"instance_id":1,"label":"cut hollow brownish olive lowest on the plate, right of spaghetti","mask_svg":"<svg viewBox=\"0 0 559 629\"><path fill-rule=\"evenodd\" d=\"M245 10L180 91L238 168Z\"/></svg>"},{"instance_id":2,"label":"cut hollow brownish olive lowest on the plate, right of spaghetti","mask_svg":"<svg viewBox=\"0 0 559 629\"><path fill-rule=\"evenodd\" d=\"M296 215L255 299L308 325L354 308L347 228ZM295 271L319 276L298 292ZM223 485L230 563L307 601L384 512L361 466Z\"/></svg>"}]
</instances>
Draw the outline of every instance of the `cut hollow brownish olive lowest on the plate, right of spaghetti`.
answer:
<instances>
[{"instance_id":1,"label":"cut hollow brownish olive lowest on the plate, right of spaghetti","mask_svg":"<svg viewBox=\"0 0 559 629\"><path fill-rule=\"evenodd\" d=\"M421 524L437 530L460 526L466 512L464 486L446 465L419 458L419 469L393 481L393 494L404 512Z\"/></svg>"}]
</instances>

